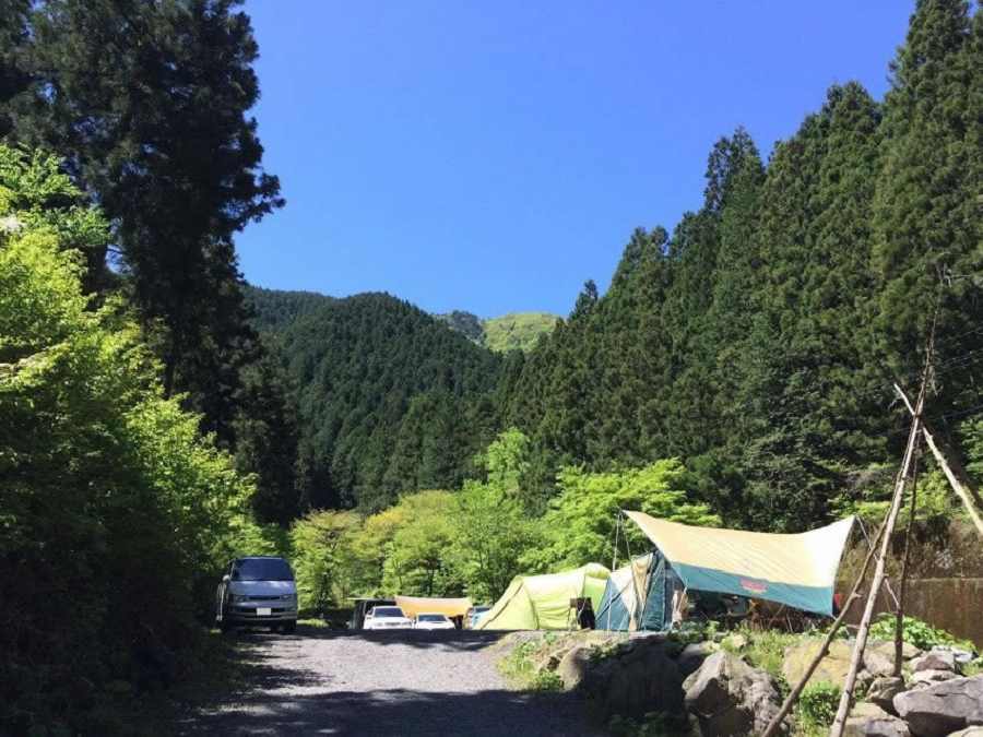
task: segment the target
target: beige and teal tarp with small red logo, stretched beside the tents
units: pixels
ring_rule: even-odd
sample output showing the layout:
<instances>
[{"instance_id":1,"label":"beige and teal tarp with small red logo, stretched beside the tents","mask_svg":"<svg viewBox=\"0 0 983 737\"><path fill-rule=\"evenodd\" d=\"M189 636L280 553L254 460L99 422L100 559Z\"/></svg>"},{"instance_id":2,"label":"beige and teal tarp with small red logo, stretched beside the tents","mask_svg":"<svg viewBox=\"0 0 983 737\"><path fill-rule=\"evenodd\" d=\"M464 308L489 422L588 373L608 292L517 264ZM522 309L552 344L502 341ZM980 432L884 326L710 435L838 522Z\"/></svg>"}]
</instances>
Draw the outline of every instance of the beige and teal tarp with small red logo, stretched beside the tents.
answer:
<instances>
[{"instance_id":1,"label":"beige and teal tarp with small red logo, stretched beside the tents","mask_svg":"<svg viewBox=\"0 0 983 737\"><path fill-rule=\"evenodd\" d=\"M626 514L687 589L832 614L837 569L852 516L797 535L781 535L692 527L643 512Z\"/></svg>"}]
</instances>

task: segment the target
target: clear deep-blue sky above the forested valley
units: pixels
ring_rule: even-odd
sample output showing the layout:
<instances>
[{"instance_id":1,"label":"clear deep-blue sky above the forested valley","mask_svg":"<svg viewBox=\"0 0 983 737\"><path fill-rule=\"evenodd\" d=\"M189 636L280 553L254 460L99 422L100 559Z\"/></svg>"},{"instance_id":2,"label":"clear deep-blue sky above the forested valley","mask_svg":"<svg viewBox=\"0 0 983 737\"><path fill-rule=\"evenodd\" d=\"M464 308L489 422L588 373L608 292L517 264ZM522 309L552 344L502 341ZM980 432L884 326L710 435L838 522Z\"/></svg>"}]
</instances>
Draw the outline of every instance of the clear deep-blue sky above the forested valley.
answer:
<instances>
[{"instance_id":1,"label":"clear deep-blue sky above the forested valley","mask_svg":"<svg viewBox=\"0 0 983 737\"><path fill-rule=\"evenodd\" d=\"M386 290L435 312L566 314L636 226L700 204L713 142L763 153L858 80L875 97L910 0L250 0L256 109L285 209L246 278Z\"/></svg>"}]
</instances>

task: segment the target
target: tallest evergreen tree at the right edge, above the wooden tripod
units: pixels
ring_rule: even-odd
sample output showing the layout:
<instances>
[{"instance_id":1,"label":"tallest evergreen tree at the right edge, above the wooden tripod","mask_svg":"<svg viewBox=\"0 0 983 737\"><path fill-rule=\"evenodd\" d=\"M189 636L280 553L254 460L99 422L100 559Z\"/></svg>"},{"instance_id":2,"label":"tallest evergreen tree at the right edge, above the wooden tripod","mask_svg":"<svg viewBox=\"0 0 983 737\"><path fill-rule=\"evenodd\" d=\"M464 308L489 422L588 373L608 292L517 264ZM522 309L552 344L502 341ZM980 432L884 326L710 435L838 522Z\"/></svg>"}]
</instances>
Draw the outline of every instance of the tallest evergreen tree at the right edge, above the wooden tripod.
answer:
<instances>
[{"instance_id":1,"label":"tallest evergreen tree at the right edge, above the wooden tripod","mask_svg":"<svg viewBox=\"0 0 983 737\"><path fill-rule=\"evenodd\" d=\"M887 360L909 383L937 300L944 360L963 352L946 338L983 320L981 70L968 4L920 0L891 66L874 207L878 332ZM979 385L979 370L975 378ZM950 372L940 402L954 402L967 380L966 372Z\"/></svg>"}]
</instances>

